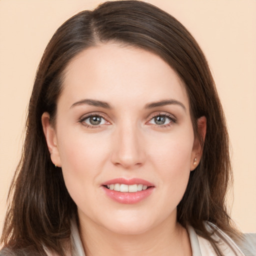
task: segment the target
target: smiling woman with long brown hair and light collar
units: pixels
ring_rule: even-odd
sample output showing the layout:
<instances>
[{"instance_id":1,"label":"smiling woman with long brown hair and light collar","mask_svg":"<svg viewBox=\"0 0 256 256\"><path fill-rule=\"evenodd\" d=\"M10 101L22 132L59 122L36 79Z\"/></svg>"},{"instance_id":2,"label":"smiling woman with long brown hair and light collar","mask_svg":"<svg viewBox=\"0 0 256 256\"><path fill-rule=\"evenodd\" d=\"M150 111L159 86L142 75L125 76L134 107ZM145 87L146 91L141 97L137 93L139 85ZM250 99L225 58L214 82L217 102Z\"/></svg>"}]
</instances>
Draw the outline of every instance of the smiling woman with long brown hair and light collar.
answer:
<instances>
[{"instance_id":1,"label":"smiling woman with long brown hair and light collar","mask_svg":"<svg viewBox=\"0 0 256 256\"><path fill-rule=\"evenodd\" d=\"M0 255L253 255L225 209L229 177L196 41L150 4L103 3L45 49Z\"/></svg>"}]
</instances>

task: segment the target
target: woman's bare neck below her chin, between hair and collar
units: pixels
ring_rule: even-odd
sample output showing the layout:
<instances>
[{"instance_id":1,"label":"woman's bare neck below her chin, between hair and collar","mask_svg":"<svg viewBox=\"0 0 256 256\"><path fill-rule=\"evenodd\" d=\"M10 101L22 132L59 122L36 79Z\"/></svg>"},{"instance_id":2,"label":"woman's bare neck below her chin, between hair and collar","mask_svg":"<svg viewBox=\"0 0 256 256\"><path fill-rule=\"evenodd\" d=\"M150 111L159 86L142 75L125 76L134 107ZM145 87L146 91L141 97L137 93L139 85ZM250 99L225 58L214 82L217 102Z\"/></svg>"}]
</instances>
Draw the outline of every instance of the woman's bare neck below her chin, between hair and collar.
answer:
<instances>
[{"instance_id":1,"label":"woman's bare neck below her chin, between hair and collar","mask_svg":"<svg viewBox=\"0 0 256 256\"><path fill-rule=\"evenodd\" d=\"M86 222L80 223L80 236L86 256L192 255L188 233L176 222L164 221L140 234L119 234Z\"/></svg>"}]
</instances>

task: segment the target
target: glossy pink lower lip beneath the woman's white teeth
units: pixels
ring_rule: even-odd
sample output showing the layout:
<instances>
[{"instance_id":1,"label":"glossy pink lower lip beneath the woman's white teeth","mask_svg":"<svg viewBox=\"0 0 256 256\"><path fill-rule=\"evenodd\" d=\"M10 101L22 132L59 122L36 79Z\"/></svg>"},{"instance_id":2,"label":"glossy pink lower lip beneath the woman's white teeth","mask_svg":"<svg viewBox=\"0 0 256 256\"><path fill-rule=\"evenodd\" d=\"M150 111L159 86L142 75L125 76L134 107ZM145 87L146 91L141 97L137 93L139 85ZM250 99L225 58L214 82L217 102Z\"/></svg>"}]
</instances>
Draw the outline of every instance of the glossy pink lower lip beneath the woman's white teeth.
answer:
<instances>
[{"instance_id":1,"label":"glossy pink lower lip beneath the woman's white teeth","mask_svg":"<svg viewBox=\"0 0 256 256\"><path fill-rule=\"evenodd\" d=\"M111 199L125 204L132 204L132 203L138 203L148 197L154 187L148 187L145 190L137 191L137 192L120 192L115 190L110 190L104 186L102 186L106 195L109 196Z\"/></svg>"}]
</instances>

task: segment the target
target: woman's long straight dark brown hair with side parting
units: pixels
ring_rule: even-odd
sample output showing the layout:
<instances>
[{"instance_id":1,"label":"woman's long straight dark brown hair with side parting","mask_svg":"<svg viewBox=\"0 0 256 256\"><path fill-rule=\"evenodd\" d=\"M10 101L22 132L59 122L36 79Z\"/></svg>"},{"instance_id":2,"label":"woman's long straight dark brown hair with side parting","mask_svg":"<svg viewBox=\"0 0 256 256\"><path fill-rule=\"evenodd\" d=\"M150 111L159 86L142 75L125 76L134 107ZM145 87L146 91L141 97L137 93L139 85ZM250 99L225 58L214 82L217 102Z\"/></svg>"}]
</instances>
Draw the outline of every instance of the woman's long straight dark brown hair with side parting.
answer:
<instances>
[{"instance_id":1,"label":"woman's long straight dark brown hair with side parting","mask_svg":"<svg viewBox=\"0 0 256 256\"><path fill-rule=\"evenodd\" d=\"M107 41L149 50L176 71L186 87L194 132L199 138L196 120L203 115L207 118L201 161L190 173L177 206L177 221L194 227L220 255L204 221L232 237L237 232L225 207L231 177L229 142L214 81L201 49L186 28L168 13L136 0L105 2L93 11L81 11L64 22L49 41L29 102L23 152L9 191L2 244L20 255L23 248L33 255L45 254L42 245L65 254L61 241L70 235L70 218L76 215L76 205L66 190L61 168L56 170L50 160L41 115L46 111L54 121L69 61L81 50Z\"/></svg>"}]
</instances>

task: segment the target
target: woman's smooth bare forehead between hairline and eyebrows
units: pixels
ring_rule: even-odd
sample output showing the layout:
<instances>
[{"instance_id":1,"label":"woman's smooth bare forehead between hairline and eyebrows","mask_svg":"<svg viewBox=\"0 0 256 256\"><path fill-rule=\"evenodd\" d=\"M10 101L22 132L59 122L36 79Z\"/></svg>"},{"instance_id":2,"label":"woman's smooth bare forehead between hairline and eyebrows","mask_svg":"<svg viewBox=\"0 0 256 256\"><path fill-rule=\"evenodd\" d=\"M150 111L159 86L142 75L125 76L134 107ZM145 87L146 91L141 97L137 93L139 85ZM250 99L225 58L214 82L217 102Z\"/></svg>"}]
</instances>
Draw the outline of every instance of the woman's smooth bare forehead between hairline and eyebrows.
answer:
<instances>
[{"instance_id":1,"label":"woman's smooth bare forehead between hairline and eyebrows","mask_svg":"<svg viewBox=\"0 0 256 256\"><path fill-rule=\"evenodd\" d=\"M116 103L174 97L189 108L181 79L161 57L113 42L87 48L70 61L62 94L69 103L83 97Z\"/></svg>"}]
</instances>

